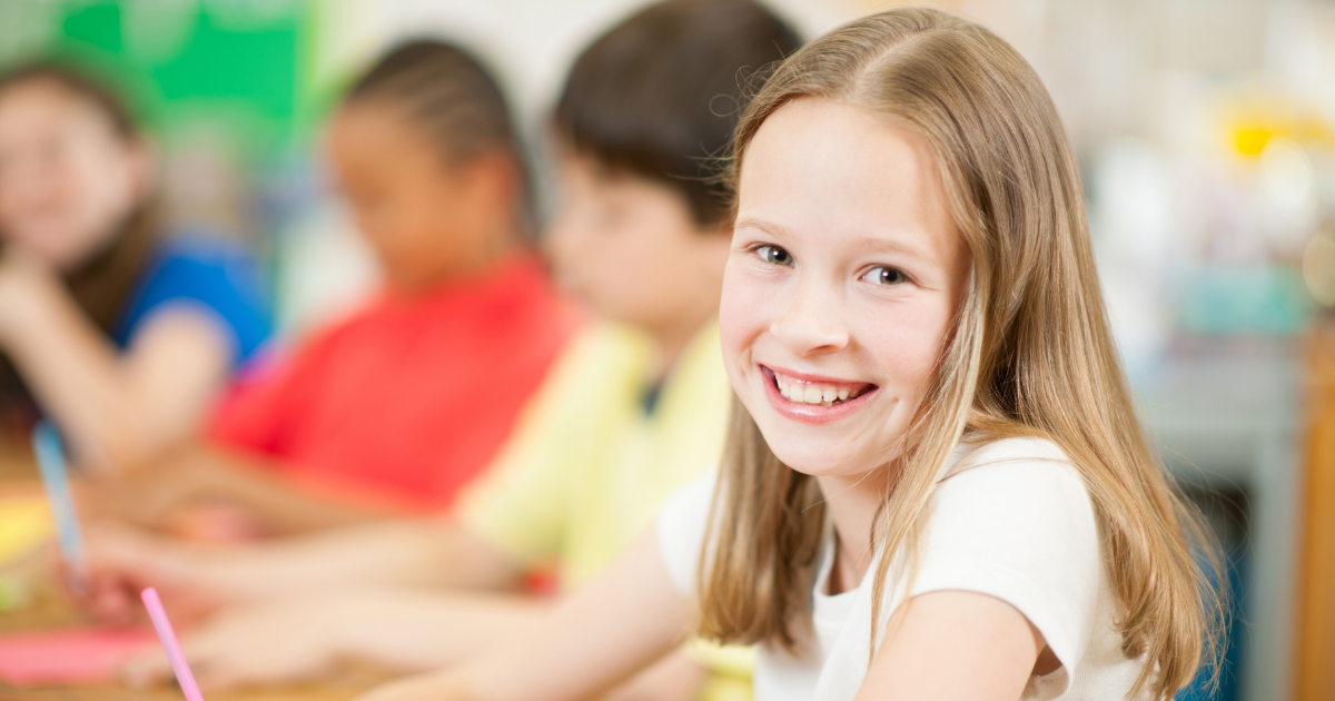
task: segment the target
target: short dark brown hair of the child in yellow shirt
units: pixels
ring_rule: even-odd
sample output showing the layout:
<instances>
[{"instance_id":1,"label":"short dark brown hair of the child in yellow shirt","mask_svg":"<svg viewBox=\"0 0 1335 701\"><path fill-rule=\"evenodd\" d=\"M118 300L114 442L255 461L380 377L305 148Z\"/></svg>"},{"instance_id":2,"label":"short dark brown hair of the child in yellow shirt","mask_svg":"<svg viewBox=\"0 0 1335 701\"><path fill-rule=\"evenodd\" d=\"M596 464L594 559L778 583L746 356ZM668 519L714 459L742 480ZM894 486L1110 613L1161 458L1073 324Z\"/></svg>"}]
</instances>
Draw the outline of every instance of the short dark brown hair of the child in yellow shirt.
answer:
<instances>
[{"instance_id":1,"label":"short dark brown hair of the child in yellow shirt","mask_svg":"<svg viewBox=\"0 0 1335 701\"><path fill-rule=\"evenodd\" d=\"M563 156L669 186L700 227L728 216L717 159L766 67L800 45L753 1L655 3L575 60L553 115Z\"/></svg>"}]
</instances>

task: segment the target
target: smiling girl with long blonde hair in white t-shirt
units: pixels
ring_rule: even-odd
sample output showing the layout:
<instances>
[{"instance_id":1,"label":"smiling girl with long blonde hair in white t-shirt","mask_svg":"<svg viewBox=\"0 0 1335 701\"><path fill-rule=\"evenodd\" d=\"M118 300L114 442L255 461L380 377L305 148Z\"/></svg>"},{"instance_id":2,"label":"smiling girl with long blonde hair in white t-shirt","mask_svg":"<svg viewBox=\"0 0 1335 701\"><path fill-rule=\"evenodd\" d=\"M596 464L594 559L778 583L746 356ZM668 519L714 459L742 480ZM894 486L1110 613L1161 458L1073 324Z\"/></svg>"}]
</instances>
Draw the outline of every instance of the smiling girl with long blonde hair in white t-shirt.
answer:
<instances>
[{"instance_id":1,"label":"smiling girl with long blonde hair in white t-shirt","mask_svg":"<svg viewBox=\"0 0 1335 701\"><path fill-rule=\"evenodd\" d=\"M1029 65L876 15L785 61L733 154L717 485L542 633L371 698L586 697L688 630L760 645L761 700L1171 698L1218 648L1203 535L1131 410Z\"/></svg>"}]
</instances>

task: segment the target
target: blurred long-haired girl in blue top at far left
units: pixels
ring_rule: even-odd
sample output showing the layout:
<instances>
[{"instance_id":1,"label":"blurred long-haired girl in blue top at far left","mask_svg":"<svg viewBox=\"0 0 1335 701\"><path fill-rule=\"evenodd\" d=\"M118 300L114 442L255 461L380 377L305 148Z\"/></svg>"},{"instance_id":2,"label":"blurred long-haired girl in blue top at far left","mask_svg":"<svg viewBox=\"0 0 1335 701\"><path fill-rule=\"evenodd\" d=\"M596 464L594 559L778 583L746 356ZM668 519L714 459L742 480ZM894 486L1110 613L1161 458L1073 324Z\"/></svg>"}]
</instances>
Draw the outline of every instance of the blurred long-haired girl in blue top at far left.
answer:
<instances>
[{"instance_id":1,"label":"blurred long-haired girl in blue top at far left","mask_svg":"<svg viewBox=\"0 0 1335 701\"><path fill-rule=\"evenodd\" d=\"M156 212L111 92L56 64L0 75L0 415L40 407L104 473L192 434L268 332L250 255Z\"/></svg>"}]
</instances>

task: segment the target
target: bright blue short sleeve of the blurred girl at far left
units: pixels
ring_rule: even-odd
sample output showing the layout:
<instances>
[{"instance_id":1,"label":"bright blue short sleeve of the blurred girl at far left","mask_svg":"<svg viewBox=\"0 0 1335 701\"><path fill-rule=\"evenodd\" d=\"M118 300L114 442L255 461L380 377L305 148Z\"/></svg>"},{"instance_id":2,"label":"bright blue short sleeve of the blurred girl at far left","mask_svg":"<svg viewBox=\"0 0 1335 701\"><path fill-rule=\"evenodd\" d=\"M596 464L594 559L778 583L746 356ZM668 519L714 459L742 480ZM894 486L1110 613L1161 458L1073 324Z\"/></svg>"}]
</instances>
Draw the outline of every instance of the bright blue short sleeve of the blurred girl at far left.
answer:
<instances>
[{"instance_id":1,"label":"bright blue short sleeve of the blurred girl at far left","mask_svg":"<svg viewBox=\"0 0 1335 701\"><path fill-rule=\"evenodd\" d=\"M112 340L124 348L155 311L179 303L210 312L231 331L232 369L263 346L271 330L259 262L216 236L170 238L158 246L129 295Z\"/></svg>"}]
</instances>

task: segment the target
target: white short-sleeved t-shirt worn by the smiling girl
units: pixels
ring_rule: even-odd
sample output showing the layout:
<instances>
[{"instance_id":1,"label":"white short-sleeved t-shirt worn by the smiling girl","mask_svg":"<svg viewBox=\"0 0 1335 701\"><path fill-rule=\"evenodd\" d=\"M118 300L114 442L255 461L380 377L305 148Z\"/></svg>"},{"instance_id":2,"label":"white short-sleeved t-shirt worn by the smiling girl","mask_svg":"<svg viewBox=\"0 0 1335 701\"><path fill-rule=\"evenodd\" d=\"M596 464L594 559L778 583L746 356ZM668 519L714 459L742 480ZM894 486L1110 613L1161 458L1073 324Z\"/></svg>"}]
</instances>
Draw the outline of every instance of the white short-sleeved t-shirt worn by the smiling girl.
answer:
<instances>
[{"instance_id":1,"label":"white short-sleeved t-shirt worn by the smiling girl","mask_svg":"<svg viewBox=\"0 0 1335 701\"><path fill-rule=\"evenodd\" d=\"M909 596L979 592L1023 613L1061 661L1057 670L1029 678L1024 701L1127 698L1144 660L1121 654L1093 509L1061 449L1037 438L964 443L941 474ZM713 490L714 475L700 478L658 515L658 547L673 583L688 597L694 596ZM876 563L857 589L824 594L833 545L826 525L812 593L816 641L801 646L801 657L761 646L757 701L852 701L862 685ZM886 583L878 632L904 601L904 585Z\"/></svg>"}]
</instances>

